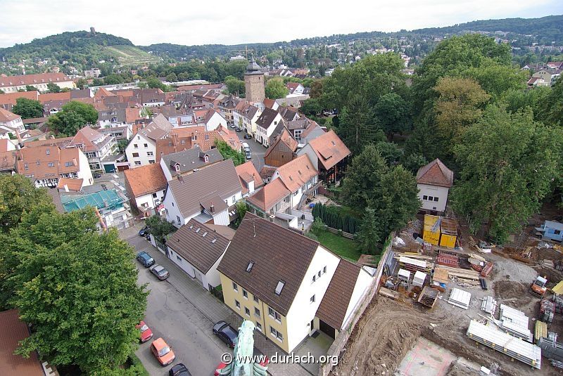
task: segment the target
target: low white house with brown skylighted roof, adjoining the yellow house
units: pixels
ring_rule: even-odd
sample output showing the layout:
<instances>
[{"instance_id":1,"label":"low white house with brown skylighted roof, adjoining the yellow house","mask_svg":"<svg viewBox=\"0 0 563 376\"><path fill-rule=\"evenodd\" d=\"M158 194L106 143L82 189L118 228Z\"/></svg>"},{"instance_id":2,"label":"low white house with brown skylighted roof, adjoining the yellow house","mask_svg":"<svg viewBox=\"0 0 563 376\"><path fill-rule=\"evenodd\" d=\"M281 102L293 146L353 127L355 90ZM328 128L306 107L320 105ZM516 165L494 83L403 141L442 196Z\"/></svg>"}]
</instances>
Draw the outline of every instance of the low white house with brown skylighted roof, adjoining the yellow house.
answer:
<instances>
[{"instance_id":1,"label":"low white house with brown skylighted roof, adjoining the yellow house","mask_svg":"<svg viewBox=\"0 0 563 376\"><path fill-rule=\"evenodd\" d=\"M167 240L167 256L205 290L211 291L221 284L217 265L231 239L232 235L229 239L191 219Z\"/></svg>"}]
</instances>

